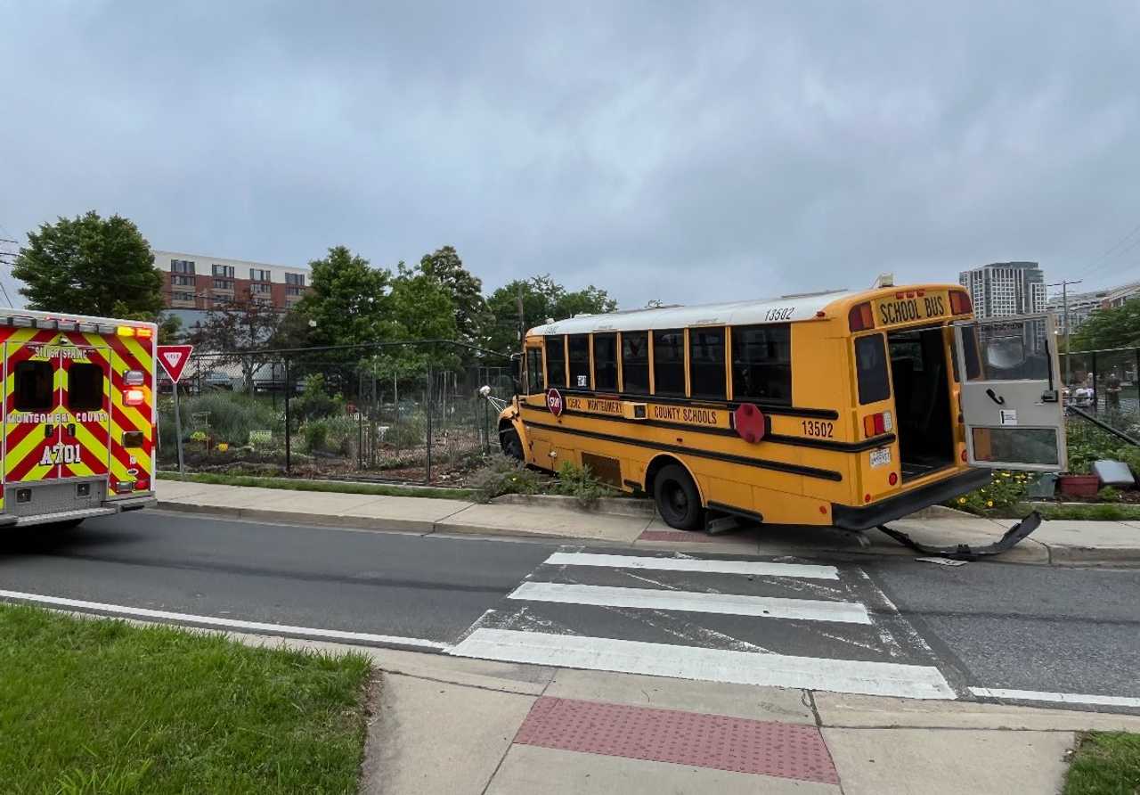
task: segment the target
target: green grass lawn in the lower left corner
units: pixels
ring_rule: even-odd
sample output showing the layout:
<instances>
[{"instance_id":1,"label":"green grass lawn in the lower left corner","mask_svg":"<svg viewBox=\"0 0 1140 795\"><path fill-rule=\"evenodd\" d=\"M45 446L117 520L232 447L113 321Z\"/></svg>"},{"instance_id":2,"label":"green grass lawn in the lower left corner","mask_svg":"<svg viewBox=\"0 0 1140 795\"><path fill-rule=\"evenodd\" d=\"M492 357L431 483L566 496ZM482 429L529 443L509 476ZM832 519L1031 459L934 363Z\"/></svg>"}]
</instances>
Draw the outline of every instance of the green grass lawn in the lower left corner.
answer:
<instances>
[{"instance_id":1,"label":"green grass lawn in the lower left corner","mask_svg":"<svg viewBox=\"0 0 1140 795\"><path fill-rule=\"evenodd\" d=\"M0 606L6 793L355 793L360 656Z\"/></svg>"}]
</instances>

